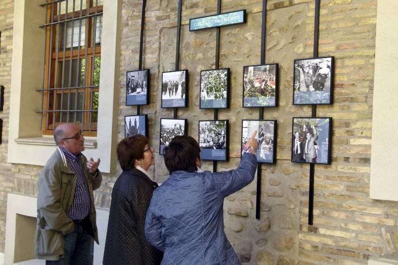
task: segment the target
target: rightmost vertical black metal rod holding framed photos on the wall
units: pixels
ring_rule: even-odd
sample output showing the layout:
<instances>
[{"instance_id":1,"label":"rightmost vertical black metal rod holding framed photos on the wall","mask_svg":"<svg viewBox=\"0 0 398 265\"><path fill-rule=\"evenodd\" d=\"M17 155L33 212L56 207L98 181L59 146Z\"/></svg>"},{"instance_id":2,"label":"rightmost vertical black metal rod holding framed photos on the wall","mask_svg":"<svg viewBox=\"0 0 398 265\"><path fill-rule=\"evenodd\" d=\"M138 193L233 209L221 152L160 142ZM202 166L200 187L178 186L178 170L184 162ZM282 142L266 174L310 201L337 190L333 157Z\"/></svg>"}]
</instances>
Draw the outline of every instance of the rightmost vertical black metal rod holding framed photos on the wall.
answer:
<instances>
[{"instance_id":1,"label":"rightmost vertical black metal rod holding framed photos on the wall","mask_svg":"<svg viewBox=\"0 0 398 265\"><path fill-rule=\"evenodd\" d=\"M314 52L313 57L318 57L319 44L319 7L320 0L315 0L315 20L314 20ZM311 117L316 117L316 105L312 105ZM315 165L309 165L309 194L308 194L308 225L313 224L314 211L314 179L315 179Z\"/></svg>"}]
</instances>

